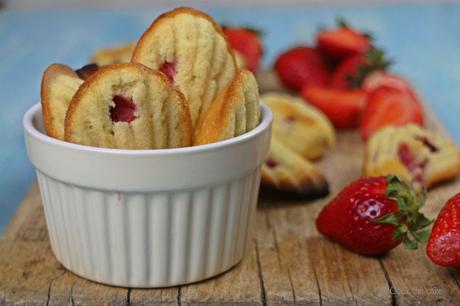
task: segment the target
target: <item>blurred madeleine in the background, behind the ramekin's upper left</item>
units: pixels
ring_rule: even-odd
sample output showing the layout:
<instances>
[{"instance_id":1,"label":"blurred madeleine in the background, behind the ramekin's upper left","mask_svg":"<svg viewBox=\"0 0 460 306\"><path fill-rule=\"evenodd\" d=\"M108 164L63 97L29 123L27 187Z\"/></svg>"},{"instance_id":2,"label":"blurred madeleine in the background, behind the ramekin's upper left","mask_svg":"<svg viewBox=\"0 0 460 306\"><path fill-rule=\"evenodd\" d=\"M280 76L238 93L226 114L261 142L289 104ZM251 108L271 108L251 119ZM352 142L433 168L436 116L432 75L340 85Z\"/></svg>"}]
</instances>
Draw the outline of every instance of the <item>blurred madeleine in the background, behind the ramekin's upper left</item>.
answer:
<instances>
[{"instance_id":1,"label":"blurred madeleine in the background, behind the ramekin's upper left","mask_svg":"<svg viewBox=\"0 0 460 306\"><path fill-rule=\"evenodd\" d=\"M91 56L91 62L99 66L129 63L135 47L135 43L127 43L100 49Z\"/></svg>"}]
</instances>

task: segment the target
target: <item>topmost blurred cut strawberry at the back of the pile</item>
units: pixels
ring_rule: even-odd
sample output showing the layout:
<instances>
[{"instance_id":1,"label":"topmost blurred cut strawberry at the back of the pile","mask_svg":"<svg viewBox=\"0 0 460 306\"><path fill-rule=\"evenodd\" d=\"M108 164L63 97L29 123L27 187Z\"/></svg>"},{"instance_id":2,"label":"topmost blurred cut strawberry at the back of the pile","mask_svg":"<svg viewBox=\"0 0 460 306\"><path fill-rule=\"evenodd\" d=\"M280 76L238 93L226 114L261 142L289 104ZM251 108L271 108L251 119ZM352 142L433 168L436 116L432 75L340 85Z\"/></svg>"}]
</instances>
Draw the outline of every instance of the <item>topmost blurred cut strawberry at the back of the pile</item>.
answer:
<instances>
[{"instance_id":1,"label":"topmost blurred cut strawberry at the back of the pile","mask_svg":"<svg viewBox=\"0 0 460 306\"><path fill-rule=\"evenodd\" d=\"M332 57L362 54L371 48L371 43L366 35L348 27L320 31L316 40L319 49Z\"/></svg>"}]
</instances>

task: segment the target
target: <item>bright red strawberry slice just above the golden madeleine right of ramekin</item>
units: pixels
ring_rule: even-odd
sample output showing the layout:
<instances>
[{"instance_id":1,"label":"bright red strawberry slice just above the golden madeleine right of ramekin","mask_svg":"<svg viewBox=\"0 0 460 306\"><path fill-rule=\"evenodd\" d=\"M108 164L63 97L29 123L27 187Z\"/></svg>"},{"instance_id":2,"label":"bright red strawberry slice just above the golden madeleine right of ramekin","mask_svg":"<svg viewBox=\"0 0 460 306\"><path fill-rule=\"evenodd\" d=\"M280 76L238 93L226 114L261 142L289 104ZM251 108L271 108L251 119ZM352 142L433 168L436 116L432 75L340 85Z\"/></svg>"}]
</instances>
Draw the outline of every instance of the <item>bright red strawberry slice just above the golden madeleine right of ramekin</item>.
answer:
<instances>
[{"instance_id":1,"label":"bright red strawberry slice just above the golden madeleine right of ramekin","mask_svg":"<svg viewBox=\"0 0 460 306\"><path fill-rule=\"evenodd\" d=\"M344 90L318 86L302 89L302 97L319 108L337 128L353 128L366 104L363 90Z\"/></svg>"}]
</instances>

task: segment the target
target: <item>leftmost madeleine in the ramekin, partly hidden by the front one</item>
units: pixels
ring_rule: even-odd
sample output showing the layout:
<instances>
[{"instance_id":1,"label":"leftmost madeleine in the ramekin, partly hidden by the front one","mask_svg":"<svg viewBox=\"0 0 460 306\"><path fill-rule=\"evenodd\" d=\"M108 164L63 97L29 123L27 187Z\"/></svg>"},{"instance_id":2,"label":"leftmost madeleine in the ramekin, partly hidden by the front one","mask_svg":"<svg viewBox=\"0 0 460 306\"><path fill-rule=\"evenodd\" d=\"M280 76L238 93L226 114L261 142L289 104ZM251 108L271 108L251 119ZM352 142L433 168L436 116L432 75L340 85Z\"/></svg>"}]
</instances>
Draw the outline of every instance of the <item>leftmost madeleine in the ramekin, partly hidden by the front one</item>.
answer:
<instances>
[{"instance_id":1,"label":"leftmost madeleine in the ramekin, partly hidden by the front one","mask_svg":"<svg viewBox=\"0 0 460 306\"><path fill-rule=\"evenodd\" d=\"M64 139L64 120L70 100L83 83L78 74L62 64L46 68L41 84L41 103L48 136Z\"/></svg>"}]
</instances>

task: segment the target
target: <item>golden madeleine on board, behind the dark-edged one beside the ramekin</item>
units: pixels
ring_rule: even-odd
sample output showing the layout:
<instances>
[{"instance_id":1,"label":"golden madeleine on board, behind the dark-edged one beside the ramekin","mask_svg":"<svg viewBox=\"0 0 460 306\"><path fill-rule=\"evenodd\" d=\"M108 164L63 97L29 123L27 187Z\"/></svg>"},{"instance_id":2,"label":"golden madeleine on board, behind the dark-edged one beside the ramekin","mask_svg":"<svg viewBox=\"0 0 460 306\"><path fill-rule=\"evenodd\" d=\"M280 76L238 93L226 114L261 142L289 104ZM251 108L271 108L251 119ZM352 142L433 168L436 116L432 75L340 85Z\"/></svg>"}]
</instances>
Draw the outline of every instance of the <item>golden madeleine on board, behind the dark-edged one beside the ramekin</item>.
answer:
<instances>
[{"instance_id":1,"label":"golden madeleine on board, behind the dark-edged one beside the ramekin","mask_svg":"<svg viewBox=\"0 0 460 306\"><path fill-rule=\"evenodd\" d=\"M323 156L335 144L335 132L323 113L302 99L282 93L260 97L273 112L272 135L308 159Z\"/></svg>"}]
</instances>

